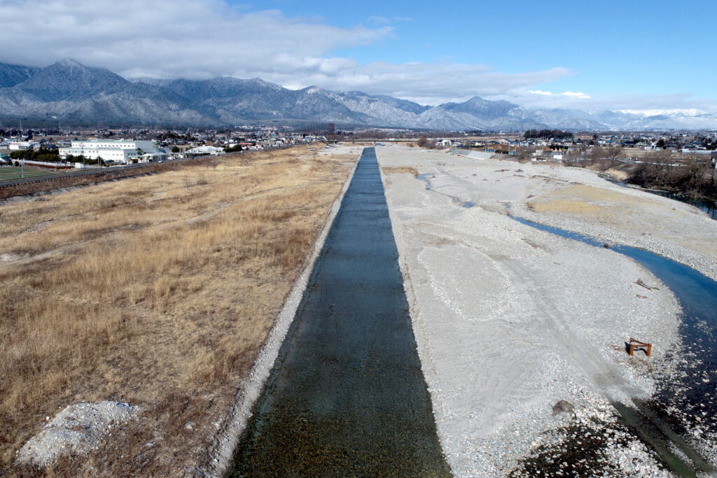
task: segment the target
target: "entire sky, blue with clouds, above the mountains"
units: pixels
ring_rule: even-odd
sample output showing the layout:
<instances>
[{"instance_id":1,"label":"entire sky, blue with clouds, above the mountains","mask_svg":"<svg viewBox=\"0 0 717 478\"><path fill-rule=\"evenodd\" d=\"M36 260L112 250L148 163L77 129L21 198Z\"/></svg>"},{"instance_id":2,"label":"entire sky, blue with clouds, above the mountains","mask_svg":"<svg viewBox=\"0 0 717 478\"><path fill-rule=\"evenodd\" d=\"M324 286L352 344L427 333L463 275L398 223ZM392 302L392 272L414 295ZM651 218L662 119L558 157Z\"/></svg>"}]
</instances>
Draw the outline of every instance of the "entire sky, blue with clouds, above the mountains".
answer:
<instances>
[{"instance_id":1,"label":"entire sky, blue with clouds, above the mountains","mask_svg":"<svg viewBox=\"0 0 717 478\"><path fill-rule=\"evenodd\" d=\"M717 111L716 23L714 1L0 0L0 61L425 104Z\"/></svg>"}]
</instances>

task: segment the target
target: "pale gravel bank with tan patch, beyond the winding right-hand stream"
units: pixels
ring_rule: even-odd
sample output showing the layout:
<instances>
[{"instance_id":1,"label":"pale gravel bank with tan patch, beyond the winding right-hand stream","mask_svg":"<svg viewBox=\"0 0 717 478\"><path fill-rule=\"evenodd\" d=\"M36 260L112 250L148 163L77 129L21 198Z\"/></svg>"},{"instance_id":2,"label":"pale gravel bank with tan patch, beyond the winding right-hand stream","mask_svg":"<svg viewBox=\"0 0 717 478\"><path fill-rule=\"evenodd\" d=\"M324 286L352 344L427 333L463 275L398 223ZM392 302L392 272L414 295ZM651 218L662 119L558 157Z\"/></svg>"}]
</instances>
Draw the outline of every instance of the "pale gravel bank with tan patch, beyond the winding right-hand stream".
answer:
<instances>
[{"instance_id":1,"label":"pale gravel bank with tan patch, beyond the winding right-hand stream","mask_svg":"<svg viewBox=\"0 0 717 478\"><path fill-rule=\"evenodd\" d=\"M717 279L717 221L694 206L617 186L583 168L445 154L442 158L420 171L438 173L432 181L437 191L487 209L509 210L531 221L647 249ZM602 193L590 194L593 188ZM569 203L583 207L538 212L529 207L536 202L553 202L558 209Z\"/></svg>"}]
</instances>

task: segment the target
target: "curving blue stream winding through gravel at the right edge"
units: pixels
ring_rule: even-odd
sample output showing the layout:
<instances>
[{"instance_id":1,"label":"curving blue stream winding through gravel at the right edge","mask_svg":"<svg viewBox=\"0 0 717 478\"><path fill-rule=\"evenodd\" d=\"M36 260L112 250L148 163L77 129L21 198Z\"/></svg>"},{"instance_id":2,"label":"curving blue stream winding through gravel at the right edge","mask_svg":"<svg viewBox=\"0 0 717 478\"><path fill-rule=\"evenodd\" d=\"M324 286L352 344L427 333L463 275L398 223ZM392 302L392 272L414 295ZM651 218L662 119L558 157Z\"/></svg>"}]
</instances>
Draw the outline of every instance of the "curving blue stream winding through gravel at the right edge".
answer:
<instances>
[{"instance_id":1,"label":"curving blue stream winding through gravel at the right edge","mask_svg":"<svg viewBox=\"0 0 717 478\"><path fill-rule=\"evenodd\" d=\"M589 236L545 226L512 216L521 224L595 247L602 242ZM675 294L683 309L680 335L685 349L678 360L678 376L659 384L660 391L637 410L614 403L622 418L675 474L693 477L715 469L688 444L695 432L717 433L717 282L666 257L635 247L611 245L610 249L639 262ZM677 359L668 354L666 360ZM688 434L693 437L687 436Z\"/></svg>"}]
</instances>

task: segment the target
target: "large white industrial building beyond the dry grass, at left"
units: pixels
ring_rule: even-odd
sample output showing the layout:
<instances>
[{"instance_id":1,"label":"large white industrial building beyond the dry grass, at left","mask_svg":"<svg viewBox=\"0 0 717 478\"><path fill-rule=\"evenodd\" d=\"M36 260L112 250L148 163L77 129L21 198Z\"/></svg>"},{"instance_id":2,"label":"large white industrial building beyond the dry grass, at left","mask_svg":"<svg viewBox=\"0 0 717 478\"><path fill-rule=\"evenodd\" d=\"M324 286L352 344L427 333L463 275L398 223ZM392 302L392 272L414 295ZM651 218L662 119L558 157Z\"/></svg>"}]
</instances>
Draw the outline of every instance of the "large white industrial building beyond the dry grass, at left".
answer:
<instances>
[{"instance_id":1,"label":"large white industrial building beyond the dry grass, at left","mask_svg":"<svg viewBox=\"0 0 717 478\"><path fill-rule=\"evenodd\" d=\"M69 148L60 148L60 158L84 156L87 159L103 158L105 161L131 163L148 161L166 156L154 141L140 140L77 140Z\"/></svg>"}]
</instances>

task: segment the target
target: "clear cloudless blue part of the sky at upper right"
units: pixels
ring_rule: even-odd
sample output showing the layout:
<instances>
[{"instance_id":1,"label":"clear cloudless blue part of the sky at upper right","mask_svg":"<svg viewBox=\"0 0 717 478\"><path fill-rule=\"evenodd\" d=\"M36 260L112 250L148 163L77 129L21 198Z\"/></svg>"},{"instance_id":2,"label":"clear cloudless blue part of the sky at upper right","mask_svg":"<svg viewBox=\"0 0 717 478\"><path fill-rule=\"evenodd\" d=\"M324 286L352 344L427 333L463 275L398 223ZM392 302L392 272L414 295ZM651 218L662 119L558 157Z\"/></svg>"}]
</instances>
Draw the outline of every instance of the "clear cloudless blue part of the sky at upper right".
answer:
<instances>
[{"instance_id":1,"label":"clear cloudless blue part of the sky at upper right","mask_svg":"<svg viewBox=\"0 0 717 478\"><path fill-rule=\"evenodd\" d=\"M241 4L237 4L242 8ZM389 25L391 37L339 49L358 62L485 64L519 73L565 67L546 89L589 95L717 95L715 1L268 1L340 27Z\"/></svg>"}]
</instances>

